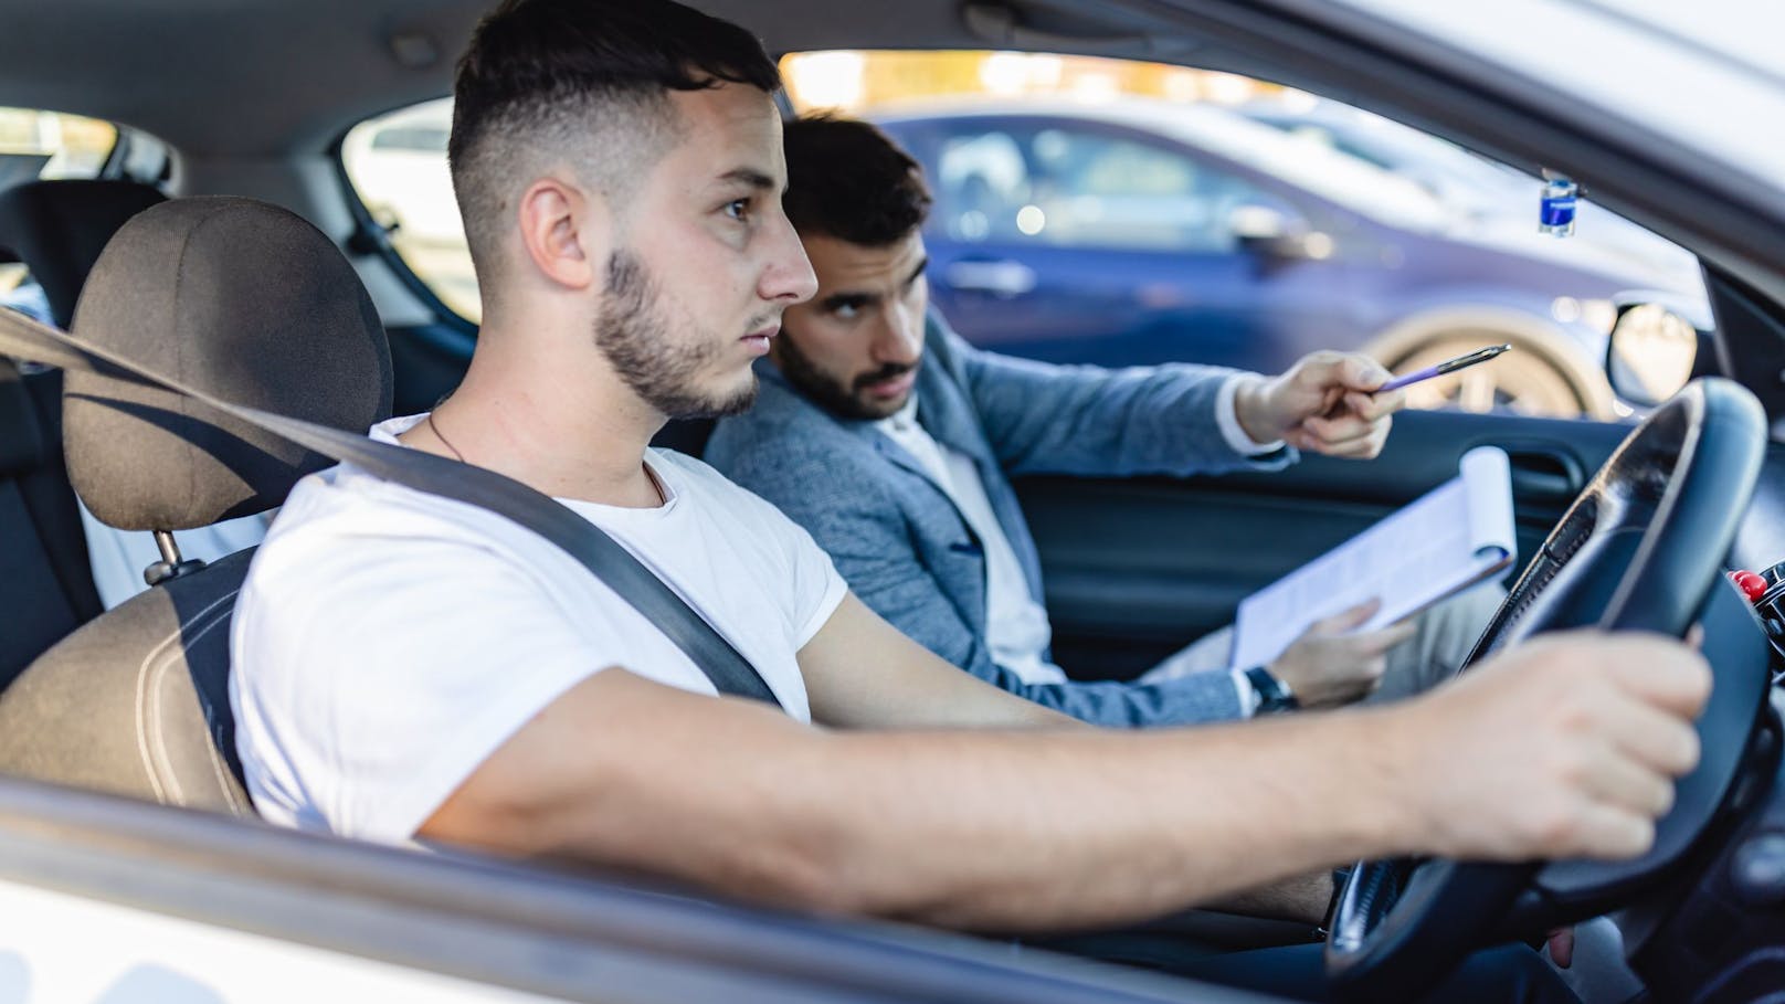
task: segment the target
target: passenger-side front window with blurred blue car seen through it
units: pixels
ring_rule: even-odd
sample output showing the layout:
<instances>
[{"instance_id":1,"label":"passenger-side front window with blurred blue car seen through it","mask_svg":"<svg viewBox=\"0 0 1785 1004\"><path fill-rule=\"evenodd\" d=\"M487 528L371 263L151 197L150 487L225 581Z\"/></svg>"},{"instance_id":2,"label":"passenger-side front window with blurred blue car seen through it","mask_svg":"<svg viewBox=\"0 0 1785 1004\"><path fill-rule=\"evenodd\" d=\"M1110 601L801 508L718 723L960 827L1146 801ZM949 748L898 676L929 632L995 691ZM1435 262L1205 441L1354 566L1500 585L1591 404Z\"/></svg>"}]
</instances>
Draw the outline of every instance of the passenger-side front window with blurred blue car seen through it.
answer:
<instances>
[{"instance_id":1,"label":"passenger-side front window with blurred blue car seen through it","mask_svg":"<svg viewBox=\"0 0 1785 1004\"><path fill-rule=\"evenodd\" d=\"M1034 52L782 71L796 111L910 141L935 198L930 302L996 352L1276 373L1335 348L1405 373L1512 343L1410 400L1626 420L1605 377L1617 298L1705 300L1689 252L1590 198L1557 239L1542 179L1266 79Z\"/></svg>"}]
</instances>

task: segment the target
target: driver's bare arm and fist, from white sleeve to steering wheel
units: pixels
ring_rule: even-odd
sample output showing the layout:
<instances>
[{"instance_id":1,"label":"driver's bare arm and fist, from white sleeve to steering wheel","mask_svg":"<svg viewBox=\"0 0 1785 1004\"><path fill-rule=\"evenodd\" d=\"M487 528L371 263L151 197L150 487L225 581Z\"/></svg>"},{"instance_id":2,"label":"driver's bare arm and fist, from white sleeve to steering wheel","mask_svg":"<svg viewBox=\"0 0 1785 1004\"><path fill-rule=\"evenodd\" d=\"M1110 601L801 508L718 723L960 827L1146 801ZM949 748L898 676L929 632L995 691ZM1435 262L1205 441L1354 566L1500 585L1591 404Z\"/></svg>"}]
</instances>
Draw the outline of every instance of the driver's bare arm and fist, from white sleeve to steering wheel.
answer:
<instances>
[{"instance_id":1,"label":"driver's bare arm and fist, from white sleeve to steering wheel","mask_svg":"<svg viewBox=\"0 0 1785 1004\"><path fill-rule=\"evenodd\" d=\"M1257 908L1358 858L1642 854L1669 779L1698 761L1708 691L1678 643L1580 634L1387 709L834 734L612 668L503 743L421 836L816 909L1083 929Z\"/></svg>"}]
</instances>

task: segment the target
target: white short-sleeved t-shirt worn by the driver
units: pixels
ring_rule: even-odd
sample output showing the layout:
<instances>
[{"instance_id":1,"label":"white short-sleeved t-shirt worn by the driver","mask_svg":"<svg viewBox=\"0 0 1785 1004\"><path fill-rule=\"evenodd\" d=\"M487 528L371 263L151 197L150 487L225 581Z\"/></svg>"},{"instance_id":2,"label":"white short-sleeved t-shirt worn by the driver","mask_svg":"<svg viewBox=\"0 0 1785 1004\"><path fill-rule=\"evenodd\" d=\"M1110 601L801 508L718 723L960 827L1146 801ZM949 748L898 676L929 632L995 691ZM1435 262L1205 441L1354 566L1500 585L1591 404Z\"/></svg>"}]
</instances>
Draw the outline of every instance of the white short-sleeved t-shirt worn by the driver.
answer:
<instances>
[{"instance_id":1,"label":"white short-sleeved t-shirt worn by the driver","mask_svg":"<svg viewBox=\"0 0 1785 1004\"><path fill-rule=\"evenodd\" d=\"M394 441L421 418L373 438ZM843 602L843 577L780 509L707 464L668 450L646 463L668 504L564 504L669 582L809 722L794 656ZM286 500L230 647L236 745L261 815L382 841L409 841L509 736L607 666L716 693L555 545L350 464Z\"/></svg>"}]
</instances>

